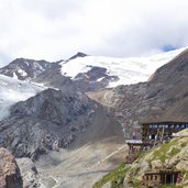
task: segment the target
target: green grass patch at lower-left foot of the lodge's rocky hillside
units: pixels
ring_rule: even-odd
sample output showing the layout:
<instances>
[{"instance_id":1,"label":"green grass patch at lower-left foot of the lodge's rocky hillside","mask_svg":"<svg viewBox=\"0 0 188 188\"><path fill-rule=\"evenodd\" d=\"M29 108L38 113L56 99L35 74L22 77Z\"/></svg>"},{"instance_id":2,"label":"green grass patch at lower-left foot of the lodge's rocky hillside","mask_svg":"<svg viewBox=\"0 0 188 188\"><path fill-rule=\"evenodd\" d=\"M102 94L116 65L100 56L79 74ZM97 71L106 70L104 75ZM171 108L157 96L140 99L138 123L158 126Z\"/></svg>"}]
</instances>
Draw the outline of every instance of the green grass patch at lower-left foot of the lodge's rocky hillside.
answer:
<instances>
[{"instance_id":1,"label":"green grass patch at lower-left foot of the lodge's rocky hillside","mask_svg":"<svg viewBox=\"0 0 188 188\"><path fill-rule=\"evenodd\" d=\"M123 188L123 179L128 169L125 164L120 165L97 181L92 188L101 188L107 183L111 183L111 188Z\"/></svg>"}]
</instances>

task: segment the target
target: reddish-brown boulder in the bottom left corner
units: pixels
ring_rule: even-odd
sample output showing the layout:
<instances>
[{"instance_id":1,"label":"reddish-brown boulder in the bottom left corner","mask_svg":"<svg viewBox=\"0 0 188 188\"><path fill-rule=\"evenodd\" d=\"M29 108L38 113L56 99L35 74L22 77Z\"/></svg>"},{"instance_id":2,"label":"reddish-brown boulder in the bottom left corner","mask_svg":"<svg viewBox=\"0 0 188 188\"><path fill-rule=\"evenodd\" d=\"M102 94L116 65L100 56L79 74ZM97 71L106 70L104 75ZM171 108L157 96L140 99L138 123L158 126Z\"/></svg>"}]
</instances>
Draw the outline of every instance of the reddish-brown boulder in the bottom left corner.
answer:
<instances>
[{"instance_id":1,"label":"reddish-brown boulder in the bottom left corner","mask_svg":"<svg viewBox=\"0 0 188 188\"><path fill-rule=\"evenodd\" d=\"M0 147L0 187L22 188L20 169L10 152Z\"/></svg>"}]
</instances>

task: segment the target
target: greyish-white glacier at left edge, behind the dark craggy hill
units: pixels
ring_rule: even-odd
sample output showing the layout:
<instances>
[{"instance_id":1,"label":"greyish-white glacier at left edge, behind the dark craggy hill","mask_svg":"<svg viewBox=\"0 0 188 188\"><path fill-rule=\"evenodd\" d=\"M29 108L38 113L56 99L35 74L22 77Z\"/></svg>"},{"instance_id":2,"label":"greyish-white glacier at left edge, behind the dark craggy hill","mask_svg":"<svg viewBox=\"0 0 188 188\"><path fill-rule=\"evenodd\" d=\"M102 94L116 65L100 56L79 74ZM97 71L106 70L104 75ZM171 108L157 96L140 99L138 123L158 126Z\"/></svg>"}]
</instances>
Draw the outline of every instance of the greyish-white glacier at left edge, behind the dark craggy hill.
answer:
<instances>
[{"instance_id":1,"label":"greyish-white glacier at left edge, behind the dark craggy hill","mask_svg":"<svg viewBox=\"0 0 188 188\"><path fill-rule=\"evenodd\" d=\"M9 114L12 104L26 100L43 89L43 87L0 75L0 120Z\"/></svg>"}]
</instances>

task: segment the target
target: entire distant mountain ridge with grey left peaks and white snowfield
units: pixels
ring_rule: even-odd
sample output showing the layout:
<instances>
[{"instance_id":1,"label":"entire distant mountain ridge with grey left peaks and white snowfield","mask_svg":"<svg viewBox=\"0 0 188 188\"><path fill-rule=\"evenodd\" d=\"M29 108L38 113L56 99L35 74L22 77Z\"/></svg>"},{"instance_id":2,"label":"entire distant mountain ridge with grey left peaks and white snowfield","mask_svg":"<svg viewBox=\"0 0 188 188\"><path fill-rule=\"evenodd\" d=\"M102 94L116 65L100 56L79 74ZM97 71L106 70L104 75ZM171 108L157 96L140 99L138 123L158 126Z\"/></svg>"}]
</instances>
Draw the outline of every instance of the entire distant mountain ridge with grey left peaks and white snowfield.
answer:
<instances>
[{"instance_id":1,"label":"entire distant mountain ridge with grey left peaks and white snowfield","mask_svg":"<svg viewBox=\"0 0 188 188\"><path fill-rule=\"evenodd\" d=\"M79 52L56 63L18 58L0 68L0 74L47 87L88 92L146 81L157 68L185 49L130 58L90 56Z\"/></svg>"}]
</instances>

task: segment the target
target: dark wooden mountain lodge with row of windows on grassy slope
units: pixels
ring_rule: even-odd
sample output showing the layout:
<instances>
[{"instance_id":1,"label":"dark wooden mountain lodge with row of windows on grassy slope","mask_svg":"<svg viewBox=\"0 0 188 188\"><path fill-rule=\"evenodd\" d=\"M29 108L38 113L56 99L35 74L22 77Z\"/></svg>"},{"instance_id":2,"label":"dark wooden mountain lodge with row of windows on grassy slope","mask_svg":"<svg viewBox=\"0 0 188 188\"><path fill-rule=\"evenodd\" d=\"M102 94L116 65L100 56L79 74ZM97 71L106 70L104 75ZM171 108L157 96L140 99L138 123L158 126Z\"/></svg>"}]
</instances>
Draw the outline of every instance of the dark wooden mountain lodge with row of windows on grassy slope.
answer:
<instances>
[{"instance_id":1,"label":"dark wooden mountain lodge with row of windows on grassy slope","mask_svg":"<svg viewBox=\"0 0 188 188\"><path fill-rule=\"evenodd\" d=\"M135 134L132 140L126 140L129 146L129 154L125 157L125 163L133 163L139 153L147 151L155 145L169 141L173 136L177 136L175 133L188 129L188 122L150 122L142 123L142 140L137 140Z\"/></svg>"}]
</instances>

